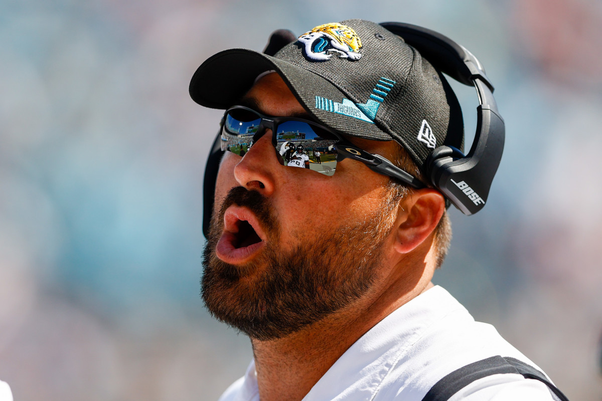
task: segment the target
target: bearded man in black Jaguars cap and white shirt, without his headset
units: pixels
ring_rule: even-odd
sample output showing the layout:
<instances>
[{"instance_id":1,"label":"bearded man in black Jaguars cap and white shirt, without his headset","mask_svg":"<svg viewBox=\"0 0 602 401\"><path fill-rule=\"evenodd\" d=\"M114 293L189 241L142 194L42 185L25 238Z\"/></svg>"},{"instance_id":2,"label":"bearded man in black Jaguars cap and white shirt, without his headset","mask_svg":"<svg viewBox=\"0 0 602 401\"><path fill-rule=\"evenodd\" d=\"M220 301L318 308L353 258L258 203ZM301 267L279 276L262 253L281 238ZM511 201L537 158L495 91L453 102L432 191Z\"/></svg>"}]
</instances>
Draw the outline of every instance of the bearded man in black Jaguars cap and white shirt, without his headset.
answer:
<instances>
[{"instance_id":1,"label":"bearded man in black Jaguars cap and white shirt, without his headset","mask_svg":"<svg viewBox=\"0 0 602 401\"><path fill-rule=\"evenodd\" d=\"M275 57L214 55L190 85L197 103L228 109L217 141L259 124L244 158L223 155L211 200L203 300L254 357L221 400L557 399L541 369L431 283L451 231L427 165L464 135L441 72L367 21L283 37ZM332 175L284 163L274 132L287 124L337 149Z\"/></svg>"}]
</instances>

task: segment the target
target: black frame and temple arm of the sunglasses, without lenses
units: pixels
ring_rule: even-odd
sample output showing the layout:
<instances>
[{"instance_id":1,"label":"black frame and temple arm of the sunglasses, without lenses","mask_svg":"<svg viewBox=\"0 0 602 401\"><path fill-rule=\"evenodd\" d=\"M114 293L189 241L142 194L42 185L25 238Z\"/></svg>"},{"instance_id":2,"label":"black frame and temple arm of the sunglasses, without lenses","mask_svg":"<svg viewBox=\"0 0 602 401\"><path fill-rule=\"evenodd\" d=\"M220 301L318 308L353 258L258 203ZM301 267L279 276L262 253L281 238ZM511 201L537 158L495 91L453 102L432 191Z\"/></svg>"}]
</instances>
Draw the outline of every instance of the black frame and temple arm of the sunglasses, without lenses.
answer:
<instances>
[{"instance_id":1,"label":"black frame and temple arm of the sunglasses, without lenses","mask_svg":"<svg viewBox=\"0 0 602 401\"><path fill-rule=\"evenodd\" d=\"M226 116L229 112L235 109L243 109L253 114L256 114L261 121L259 123L257 132L253 135L252 143L256 142L261 136L264 135L266 129L272 130L272 145L276 150L276 154L278 155L278 141L277 141L277 129L280 123L284 123L286 121L300 121L302 123L307 123L310 126L319 127L320 129L328 132L330 135L334 136L338 140L336 142L337 147L337 163L343 161L344 159L352 159L358 162L365 164L370 170L375 173L382 174L383 176L392 177L396 179L400 183L404 185L409 185L412 188L421 189L426 188L423 182L418 180L416 177L397 167L391 161L383 156L376 155L374 153L366 152L362 148L353 145L349 141L343 138L339 133L330 129L329 127L323 126L321 124L316 123L315 121L306 120L305 118L297 118L297 117L272 117L268 115L261 114L260 112L248 108L246 106L232 106L228 108L222 117L222 121L220 123L220 136L223 134L225 130L225 122ZM243 156L244 157L244 156Z\"/></svg>"}]
</instances>

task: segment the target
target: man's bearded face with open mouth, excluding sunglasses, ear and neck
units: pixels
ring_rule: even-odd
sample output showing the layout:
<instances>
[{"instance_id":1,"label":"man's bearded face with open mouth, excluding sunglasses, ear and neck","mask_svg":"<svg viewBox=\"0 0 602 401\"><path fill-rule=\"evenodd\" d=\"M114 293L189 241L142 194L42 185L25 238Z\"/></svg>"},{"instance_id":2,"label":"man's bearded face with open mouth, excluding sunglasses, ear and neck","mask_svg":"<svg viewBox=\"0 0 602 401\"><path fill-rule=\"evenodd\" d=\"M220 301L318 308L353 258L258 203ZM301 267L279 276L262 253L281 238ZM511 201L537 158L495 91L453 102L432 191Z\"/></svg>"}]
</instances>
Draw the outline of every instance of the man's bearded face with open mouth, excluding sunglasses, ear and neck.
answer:
<instances>
[{"instance_id":1,"label":"man's bearded face with open mouth, excluding sunglasses, ear and neck","mask_svg":"<svg viewBox=\"0 0 602 401\"><path fill-rule=\"evenodd\" d=\"M263 114L306 113L275 73L246 98ZM396 215L388 178L349 159L334 176L287 167L271 136L267 130L244 158L226 152L203 257L209 311L259 340L283 337L369 295ZM388 156L386 142L353 142Z\"/></svg>"}]
</instances>

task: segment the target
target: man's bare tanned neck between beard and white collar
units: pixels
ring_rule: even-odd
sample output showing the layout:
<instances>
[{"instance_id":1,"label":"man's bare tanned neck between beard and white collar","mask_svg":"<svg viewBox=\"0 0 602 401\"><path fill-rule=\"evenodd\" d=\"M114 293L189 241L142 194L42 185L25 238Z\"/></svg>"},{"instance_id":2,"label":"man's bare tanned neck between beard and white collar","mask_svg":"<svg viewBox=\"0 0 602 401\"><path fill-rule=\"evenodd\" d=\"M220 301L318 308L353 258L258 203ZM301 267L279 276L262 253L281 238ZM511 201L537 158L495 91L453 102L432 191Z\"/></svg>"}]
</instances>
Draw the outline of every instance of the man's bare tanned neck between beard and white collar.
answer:
<instances>
[{"instance_id":1,"label":"man's bare tanned neck between beard and white collar","mask_svg":"<svg viewBox=\"0 0 602 401\"><path fill-rule=\"evenodd\" d=\"M399 290L404 287L397 287L395 292L361 299L287 337L268 341L252 338L261 401L301 401L355 341L388 314L433 287L430 277L413 280L415 285L406 292Z\"/></svg>"}]
</instances>

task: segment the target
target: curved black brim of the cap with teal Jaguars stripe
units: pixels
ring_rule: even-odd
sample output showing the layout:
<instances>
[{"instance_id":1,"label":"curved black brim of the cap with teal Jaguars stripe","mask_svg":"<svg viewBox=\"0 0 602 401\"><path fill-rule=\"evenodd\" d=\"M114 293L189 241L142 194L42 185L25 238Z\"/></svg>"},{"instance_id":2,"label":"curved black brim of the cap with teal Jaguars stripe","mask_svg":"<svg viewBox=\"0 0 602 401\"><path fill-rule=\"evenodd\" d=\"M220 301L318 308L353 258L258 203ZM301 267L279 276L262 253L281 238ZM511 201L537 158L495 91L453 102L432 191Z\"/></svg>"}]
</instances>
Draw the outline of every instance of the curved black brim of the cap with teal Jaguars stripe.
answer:
<instances>
[{"instance_id":1,"label":"curved black brim of the cap with teal Jaguars stripe","mask_svg":"<svg viewBox=\"0 0 602 401\"><path fill-rule=\"evenodd\" d=\"M334 102L349 96L326 78L295 64L247 49L229 49L208 58L190 81L190 97L199 105L226 109L244 96L259 74L276 70L291 92L316 120L340 133L391 141L376 124L334 111ZM326 103L325 100L331 100Z\"/></svg>"}]
</instances>

